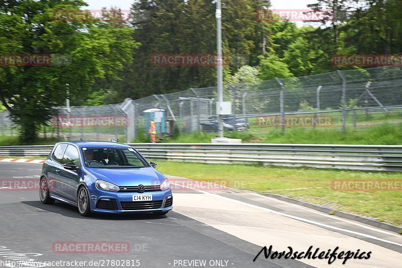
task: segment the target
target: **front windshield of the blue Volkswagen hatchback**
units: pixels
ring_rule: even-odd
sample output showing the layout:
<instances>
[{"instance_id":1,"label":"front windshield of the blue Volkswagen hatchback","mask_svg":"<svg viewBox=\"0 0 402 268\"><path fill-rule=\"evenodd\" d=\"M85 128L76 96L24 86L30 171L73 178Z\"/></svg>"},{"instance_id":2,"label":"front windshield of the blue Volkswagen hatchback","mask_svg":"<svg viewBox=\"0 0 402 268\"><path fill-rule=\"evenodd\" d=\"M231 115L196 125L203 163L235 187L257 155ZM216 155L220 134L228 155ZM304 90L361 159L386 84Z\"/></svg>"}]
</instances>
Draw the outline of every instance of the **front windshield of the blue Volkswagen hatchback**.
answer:
<instances>
[{"instance_id":1,"label":"front windshield of the blue Volkswagen hatchback","mask_svg":"<svg viewBox=\"0 0 402 268\"><path fill-rule=\"evenodd\" d=\"M85 166L93 168L139 168L149 166L133 148L82 148Z\"/></svg>"}]
</instances>

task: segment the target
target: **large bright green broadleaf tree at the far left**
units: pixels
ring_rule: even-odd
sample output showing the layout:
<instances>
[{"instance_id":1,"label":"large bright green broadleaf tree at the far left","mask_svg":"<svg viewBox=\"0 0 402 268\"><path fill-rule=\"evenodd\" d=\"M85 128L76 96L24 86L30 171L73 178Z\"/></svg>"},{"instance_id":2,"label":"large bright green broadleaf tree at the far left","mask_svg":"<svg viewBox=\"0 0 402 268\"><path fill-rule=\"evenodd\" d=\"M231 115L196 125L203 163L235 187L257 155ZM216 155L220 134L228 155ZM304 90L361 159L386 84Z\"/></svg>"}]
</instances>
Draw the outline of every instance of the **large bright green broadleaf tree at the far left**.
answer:
<instances>
[{"instance_id":1,"label":"large bright green broadleaf tree at the far left","mask_svg":"<svg viewBox=\"0 0 402 268\"><path fill-rule=\"evenodd\" d=\"M64 103L66 83L73 99L85 99L96 79L117 79L116 70L132 60L132 29L102 21L55 20L56 12L85 5L80 0L0 4L1 55L53 55L51 65L0 67L0 99L21 127L23 141L34 139L55 114L52 107Z\"/></svg>"}]
</instances>

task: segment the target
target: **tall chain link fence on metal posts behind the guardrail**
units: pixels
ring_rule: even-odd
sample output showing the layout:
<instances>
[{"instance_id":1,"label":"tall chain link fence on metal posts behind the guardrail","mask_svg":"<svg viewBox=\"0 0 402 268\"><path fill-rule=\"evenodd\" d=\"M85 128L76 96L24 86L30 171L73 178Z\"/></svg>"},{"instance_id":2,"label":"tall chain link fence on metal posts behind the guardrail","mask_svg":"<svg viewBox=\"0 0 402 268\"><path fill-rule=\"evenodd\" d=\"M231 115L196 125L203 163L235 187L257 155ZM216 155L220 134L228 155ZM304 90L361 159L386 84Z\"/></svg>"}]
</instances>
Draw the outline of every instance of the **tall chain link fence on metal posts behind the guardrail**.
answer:
<instances>
[{"instance_id":1,"label":"tall chain link fence on metal posts behind the guardrail","mask_svg":"<svg viewBox=\"0 0 402 268\"><path fill-rule=\"evenodd\" d=\"M149 140L147 112L153 111L161 111L166 122L163 130L157 129L158 139L175 133L217 132L216 100L217 88L205 87L126 99L115 105L58 107L58 116L42 135L145 141ZM347 134L385 123L396 126L402 122L402 67L228 84L224 100L232 102L233 113L224 116L224 130L249 131L256 136L272 130L285 133L290 128L339 129ZM0 113L0 132L17 135L8 116L8 112Z\"/></svg>"}]
</instances>

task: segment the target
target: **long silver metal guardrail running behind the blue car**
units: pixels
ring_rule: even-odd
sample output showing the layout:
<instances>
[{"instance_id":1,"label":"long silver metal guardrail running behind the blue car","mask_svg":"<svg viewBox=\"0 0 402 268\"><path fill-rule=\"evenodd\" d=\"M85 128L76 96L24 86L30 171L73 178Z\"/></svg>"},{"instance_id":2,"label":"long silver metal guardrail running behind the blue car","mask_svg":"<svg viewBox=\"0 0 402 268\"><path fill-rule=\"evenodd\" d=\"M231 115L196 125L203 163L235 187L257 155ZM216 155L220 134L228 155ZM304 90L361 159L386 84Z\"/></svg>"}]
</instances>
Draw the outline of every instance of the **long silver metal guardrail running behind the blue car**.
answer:
<instances>
[{"instance_id":1,"label":"long silver metal guardrail running behind the blue car","mask_svg":"<svg viewBox=\"0 0 402 268\"><path fill-rule=\"evenodd\" d=\"M134 143L149 159L402 171L400 145ZM1 156L47 156L53 145L4 146Z\"/></svg>"}]
</instances>

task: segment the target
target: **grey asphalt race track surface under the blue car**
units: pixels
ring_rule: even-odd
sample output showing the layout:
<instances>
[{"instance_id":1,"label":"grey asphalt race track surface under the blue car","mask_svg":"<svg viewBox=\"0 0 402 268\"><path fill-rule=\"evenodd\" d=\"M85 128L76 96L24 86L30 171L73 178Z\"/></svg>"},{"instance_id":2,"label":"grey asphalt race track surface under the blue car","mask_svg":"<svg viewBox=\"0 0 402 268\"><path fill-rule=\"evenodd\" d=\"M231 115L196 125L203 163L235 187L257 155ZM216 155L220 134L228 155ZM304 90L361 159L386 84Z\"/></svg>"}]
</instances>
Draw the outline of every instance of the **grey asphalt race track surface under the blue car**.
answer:
<instances>
[{"instance_id":1,"label":"grey asphalt race track surface under the blue car","mask_svg":"<svg viewBox=\"0 0 402 268\"><path fill-rule=\"evenodd\" d=\"M39 181L40 173L41 164L0 162L0 180ZM52 267L402 267L402 236L396 233L250 192L177 187L173 198L174 209L166 216L86 218L61 202L42 204L39 191L1 189L0 266L8 267L6 261L18 259L19 253L42 264L66 261ZM130 250L55 252L55 244L71 241L128 243ZM329 265L326 259L265 259L262 253L253 262L269 245L278 251L288 246L298 251L339 246L372 254L369 259L349 259L346 264L335 260Z\"/></svg>"}]
</instances>

